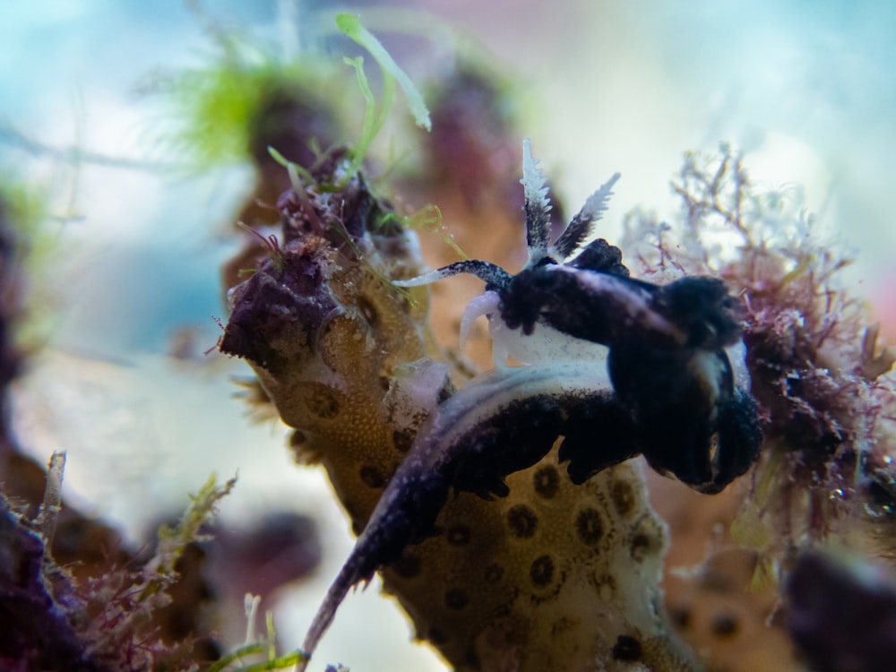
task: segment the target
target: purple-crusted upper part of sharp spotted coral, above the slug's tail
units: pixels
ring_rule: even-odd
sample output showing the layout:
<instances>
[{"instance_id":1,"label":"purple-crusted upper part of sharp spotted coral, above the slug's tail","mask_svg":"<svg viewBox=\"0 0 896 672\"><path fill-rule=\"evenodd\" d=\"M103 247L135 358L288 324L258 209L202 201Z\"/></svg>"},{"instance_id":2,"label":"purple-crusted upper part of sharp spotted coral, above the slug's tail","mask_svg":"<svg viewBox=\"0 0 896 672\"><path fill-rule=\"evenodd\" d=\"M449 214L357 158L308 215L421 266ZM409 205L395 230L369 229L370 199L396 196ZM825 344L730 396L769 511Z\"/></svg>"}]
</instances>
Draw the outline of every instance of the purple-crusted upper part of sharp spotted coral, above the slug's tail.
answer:
<instances>
[{"instance_id":1,"label":"purple-crusted upper part of sharp spotted coral, above the slug's tail","mask_svg":"<svg viewBox=\"0 0 896 672\"><path fill-rule=\"evenodd\" d=\"M363 174L339 192L319 187L338 181L347 161L333 151L312 168L314 185L283 199L280 251L231 290L220 349L254 365L281 417L298 429L299 458L323 461L363 526L427 405L450 388L440 390L448 381L439 367L407 366L432 351L424 292L389 284L421 270L413 237ZM421 376L420 392L435 387L430 398L414 387ZM383 406L384 398L395 401ZM396 418L394 429L383 415Z\"/></svg>"}]
</instances>

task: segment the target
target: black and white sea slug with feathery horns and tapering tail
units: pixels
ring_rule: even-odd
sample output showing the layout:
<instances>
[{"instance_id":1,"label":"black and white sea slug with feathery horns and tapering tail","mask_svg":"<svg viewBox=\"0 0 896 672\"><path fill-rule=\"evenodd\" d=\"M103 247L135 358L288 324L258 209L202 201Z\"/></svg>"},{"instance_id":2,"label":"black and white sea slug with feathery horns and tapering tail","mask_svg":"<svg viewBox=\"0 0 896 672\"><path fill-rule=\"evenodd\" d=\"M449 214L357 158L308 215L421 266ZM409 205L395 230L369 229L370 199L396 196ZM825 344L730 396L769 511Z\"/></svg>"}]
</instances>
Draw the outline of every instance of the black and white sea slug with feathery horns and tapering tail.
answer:
<instances>
[{"instance_id":1,"label":"black and white sea slug with feathery horns and tapering tail","mask_svg":"<svg viewBox=\"0 0 896 672\"><path fill-rule=\"evenodd\" d=\"M633 279L618 248L588 242L617 178L550 244L547 187L525 142L524 268L511 275L462 261L394 282L457 273L484 280L461 330L486 314L497 366L441 401L420 427L314 617L300 669L348 590L433 535L452 491L507 495L504 478L541 461L558 437L574 484L643 454L653 469L716 493L756 460L762 436L737 299L714 278ZM523 366L507 366L508 357ZM537 564L533 581L548 571Z\"/></svg>"}]
</instances>

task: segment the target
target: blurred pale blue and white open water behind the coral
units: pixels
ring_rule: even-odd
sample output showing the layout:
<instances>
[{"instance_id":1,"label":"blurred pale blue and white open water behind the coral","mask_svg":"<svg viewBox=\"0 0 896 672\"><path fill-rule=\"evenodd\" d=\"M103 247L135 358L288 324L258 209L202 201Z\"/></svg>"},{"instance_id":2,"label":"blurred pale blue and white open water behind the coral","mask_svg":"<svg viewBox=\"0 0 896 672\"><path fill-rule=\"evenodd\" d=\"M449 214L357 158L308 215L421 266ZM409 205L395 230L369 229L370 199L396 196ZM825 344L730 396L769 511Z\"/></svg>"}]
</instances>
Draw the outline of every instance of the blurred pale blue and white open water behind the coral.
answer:
<instances>
[{"instance_id":1,"label":"blurred pale blue and white open water behind the coral","mask_svg":"<svg viewBox=\"0 0 896 672\"><path fill-rule=\"evenodd\" d=\"M636 206L671 216L683 152L729 142L756 183L803 199L813 235L855 258L844 282L896 338L896 4L388 6L410 12L340 9L358 13L414 79L444 56L444 31L512 75L516 114L564 202L622 173L611 240ZM238 246L227 232L252 167L190 166L164 141L182 120L150 91L164 73L213 65L217 31L337 67L355 50L323 0L46 0L2 11L0 180L39 202L49 250L29 280L39 347L15 388L19 440L39 461L67 451L66 496L136 543L211 472L239 475L222 527L284 510L321 521L323 565L276 602L282 642L295 646L349 551L348 525L323 475L292 465L285 429L246 417L232 379L248 368L214 351L226 321L220 266ZM358 649L367 669L442 668L424 647L383 647L390 637L401 642L409 626L366 590L349 597L318 660Z\"/></svg>"}]
</instances>

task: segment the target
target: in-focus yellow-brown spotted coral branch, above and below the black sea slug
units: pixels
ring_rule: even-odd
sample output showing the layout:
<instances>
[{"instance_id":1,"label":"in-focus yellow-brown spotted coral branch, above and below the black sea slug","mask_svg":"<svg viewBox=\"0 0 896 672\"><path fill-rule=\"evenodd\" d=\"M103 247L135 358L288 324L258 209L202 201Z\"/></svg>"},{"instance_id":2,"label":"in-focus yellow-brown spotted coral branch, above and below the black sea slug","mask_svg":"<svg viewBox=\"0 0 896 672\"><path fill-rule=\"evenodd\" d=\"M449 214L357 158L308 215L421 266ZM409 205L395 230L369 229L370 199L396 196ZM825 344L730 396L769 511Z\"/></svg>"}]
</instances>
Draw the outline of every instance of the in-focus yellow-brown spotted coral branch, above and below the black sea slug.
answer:
<instances>
[{"instance_id":1,"label":"in-focus yellow-brown spotted coral branch, above and below the black sea slug","mask_svg":"<svg viewBox=\"0 0 896 672\"><path fill-rule=\"evenodd\" d=\"M335 182L339 165L315 178ZM297 455L323 464L360 531L453 386L423 290L386 281L422 271L413 237L383 227L388 206L363 177L340 193L320 184L283 202L285 243L232 291L221 349L254 366ZM555 447L507 484L493 501L450 497L438 533L383 570L418 636L459 669L695 668L662 611L667 534L640 465L573 486Z\"/></svg>"}]
</instances>

